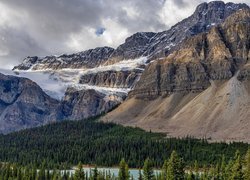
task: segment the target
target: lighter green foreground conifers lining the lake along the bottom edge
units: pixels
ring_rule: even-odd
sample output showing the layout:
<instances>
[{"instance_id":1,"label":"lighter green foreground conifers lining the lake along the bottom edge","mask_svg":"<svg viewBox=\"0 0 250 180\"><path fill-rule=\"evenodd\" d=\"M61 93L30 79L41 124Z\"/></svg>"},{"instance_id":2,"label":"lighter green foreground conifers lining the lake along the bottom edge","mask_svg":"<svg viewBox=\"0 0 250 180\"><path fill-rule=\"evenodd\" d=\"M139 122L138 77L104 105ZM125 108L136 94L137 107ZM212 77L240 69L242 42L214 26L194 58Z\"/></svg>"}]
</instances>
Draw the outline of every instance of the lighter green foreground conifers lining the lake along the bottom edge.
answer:
<instances>
[{"instance_id":1,"label":"lighter green foreground conifers lining the lake along the bottom edge","mask_svg":"<svg viewBox=\"0 0 250 180\"><path fill-rule=\"evenodd\" d=\"M37 170L34 166L21 167L16 164L5 163L0 165L2 180L129 180L135 179L129 172L125 159L119 163L118 176L98 171L97 167L90 174L85 173L79 163L75 173L68 171L46 170L44 165ZM195 163L191 169L185 167L183 158L173 151L168 160L165 160L159 173L154 173L152 160L144 161L142 170L139 170L138 180L249 180L250 179L250 150L242 157L236 151L233 158L226 164L224 156L215 166L199 168ZM190 168L190 167L188 167Z\"/></svg>"}]
</instances>

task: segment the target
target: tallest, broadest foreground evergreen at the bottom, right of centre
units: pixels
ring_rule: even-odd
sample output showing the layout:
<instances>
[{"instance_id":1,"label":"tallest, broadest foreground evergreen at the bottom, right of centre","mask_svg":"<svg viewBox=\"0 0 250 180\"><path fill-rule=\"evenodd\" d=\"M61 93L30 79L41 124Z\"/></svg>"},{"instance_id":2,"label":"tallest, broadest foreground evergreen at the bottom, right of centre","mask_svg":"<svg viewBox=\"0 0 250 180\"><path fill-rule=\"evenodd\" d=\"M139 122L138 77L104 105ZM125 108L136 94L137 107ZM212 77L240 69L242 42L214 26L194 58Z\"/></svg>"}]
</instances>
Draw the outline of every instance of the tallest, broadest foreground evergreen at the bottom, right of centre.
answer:
<instances>
[{"instance_id":1,"label":"tallest, broadest foreground evergreen at the bottom, right of centre","mask_svg":"<svg viewBox=\"0 0 250 180\"><path fill-rule=\"evenodd\" d=\"M167 179L168 180L181 180L184 179L184 163L182 158L178 156L176 151L171 153L168 162Z\"/></svg>"}]
</instances>

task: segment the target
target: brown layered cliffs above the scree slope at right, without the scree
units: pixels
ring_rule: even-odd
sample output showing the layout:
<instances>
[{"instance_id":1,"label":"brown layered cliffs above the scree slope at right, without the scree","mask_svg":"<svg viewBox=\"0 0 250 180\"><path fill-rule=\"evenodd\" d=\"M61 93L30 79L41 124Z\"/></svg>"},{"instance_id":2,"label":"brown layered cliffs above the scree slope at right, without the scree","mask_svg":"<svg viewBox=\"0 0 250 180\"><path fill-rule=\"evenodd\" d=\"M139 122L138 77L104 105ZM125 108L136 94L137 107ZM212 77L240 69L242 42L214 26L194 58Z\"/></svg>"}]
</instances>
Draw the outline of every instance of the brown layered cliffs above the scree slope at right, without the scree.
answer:
<instances>
[{"instance_id":1,"label":"brown layered cliffs above the scree slope at right, without the scree","mask_svg":"<svg viewBox=\"0 0 250 180\"><path fill-rule=\"evenodd\" d=\"M227 80L249 60L249 10L183 42L164 60L151 63L130 96L202 91L210 80ZM241 73L240 73L241 75Z\"/></svg>"}]
</instances>

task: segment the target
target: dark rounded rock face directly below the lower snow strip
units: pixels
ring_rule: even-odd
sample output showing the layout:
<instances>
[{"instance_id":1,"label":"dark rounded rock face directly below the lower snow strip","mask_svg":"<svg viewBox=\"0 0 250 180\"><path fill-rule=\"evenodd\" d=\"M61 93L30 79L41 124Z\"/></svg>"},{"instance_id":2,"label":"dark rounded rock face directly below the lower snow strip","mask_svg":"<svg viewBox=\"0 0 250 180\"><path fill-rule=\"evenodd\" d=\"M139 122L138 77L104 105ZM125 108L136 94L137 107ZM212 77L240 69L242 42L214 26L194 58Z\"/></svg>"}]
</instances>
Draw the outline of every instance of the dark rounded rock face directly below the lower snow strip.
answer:
<instances>
[{"instance_id":1,"label":"dark rounded rock face directly below the lower snow strip","mask_svg":"<svg viewBox=\"0 0 250 180\"><path fill-rule=\"evenodd\" d=\"M60 109L64 119L81 120L108 112L122 100L120 96L105 95L93 89L68 88Z\"/></svg>"}]
</instances>

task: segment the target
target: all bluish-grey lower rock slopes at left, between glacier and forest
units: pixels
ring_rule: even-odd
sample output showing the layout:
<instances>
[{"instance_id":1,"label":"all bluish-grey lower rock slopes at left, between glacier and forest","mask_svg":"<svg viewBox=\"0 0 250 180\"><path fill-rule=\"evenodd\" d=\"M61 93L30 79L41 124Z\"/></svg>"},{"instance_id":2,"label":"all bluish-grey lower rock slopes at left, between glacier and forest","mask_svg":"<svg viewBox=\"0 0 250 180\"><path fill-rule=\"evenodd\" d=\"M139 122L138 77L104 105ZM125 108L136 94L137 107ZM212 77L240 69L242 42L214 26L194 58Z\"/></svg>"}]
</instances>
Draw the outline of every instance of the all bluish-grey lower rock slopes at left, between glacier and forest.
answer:
<instances>
[{"instance_id":1,"label":"all bluish-grey lower rock slopes at left, between glacier and forest","mask_svg":"<svg viewBox=\"0 0 250 180\"><path fill-rule=\"evenodd\" d=\"M95 90L69 88L64 99L58 101L27 78L0 74L0 133L97 116L122 100Z\"/></svg>"}]
</instances>

